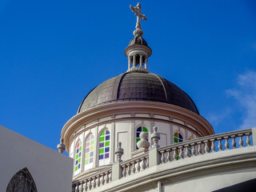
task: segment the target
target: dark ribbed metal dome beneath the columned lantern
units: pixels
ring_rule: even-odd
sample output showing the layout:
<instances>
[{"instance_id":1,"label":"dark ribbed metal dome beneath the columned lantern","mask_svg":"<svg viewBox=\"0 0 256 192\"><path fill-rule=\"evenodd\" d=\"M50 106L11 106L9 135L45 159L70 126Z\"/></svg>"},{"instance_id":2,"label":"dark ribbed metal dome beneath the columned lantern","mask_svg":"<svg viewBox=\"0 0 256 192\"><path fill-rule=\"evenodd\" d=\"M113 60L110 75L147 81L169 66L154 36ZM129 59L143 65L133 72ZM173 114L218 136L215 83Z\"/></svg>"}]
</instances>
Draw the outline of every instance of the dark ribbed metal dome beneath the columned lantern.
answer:
<instances>
[{"instance_id":1,"label":"dark ribbed metal dome beneath the columned lantern","mask_svg":"<svg viewBox=\"0 0 256 192\"><path fill-rule=\"evenodd\" d=\"M157 74L125 73L102 82L87 94L78 113L109 102L150 101L181 106L199 114L193 100L174 83Z\"/></svg>"}]
</instances>

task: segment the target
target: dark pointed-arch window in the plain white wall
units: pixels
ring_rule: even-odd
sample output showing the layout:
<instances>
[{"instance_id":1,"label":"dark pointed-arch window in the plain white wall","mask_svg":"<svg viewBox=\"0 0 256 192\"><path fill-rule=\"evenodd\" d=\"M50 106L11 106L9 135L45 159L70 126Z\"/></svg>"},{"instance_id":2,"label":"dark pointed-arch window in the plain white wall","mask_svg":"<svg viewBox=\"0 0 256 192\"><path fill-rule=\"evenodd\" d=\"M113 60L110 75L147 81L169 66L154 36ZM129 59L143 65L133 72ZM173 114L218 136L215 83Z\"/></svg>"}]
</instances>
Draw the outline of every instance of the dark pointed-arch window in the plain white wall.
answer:
<instances>
[{"instance_id":1,"label":"dark pointed-arch window in the plain white wall","mask_svg":"<svg viewBox=\"0 0 256 192\"><path fill-rule=\"evenodd\" d=\"M19 192L19 191L30 191L37 192L37 187L35 186L34 180L30 174L30 171L26 168L19 170L10 179L7 186L6 192Z\"/></svg>"}]
</instances>

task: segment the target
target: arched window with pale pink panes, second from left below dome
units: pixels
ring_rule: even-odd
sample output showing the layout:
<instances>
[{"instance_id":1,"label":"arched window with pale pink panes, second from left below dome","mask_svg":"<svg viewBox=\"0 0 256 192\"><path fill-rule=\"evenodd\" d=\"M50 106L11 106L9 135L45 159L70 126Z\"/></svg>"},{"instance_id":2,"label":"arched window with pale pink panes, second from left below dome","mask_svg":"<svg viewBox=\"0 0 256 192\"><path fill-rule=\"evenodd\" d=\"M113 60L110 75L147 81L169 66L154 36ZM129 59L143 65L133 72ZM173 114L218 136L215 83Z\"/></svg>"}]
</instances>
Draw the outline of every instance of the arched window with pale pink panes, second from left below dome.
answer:
<instances>
[{"instance_id":1,"label":"arched window with pale pink panes, second from left below dome","mask_svg":"<svg viewBox=\"0 0 256 192\"><path fill-rule=\"evenodd\" d=\"M90 134L86 138L86 160L85 160L85 170L90 169L94 162L94 135Z\"/></svg>"}]
</instances>

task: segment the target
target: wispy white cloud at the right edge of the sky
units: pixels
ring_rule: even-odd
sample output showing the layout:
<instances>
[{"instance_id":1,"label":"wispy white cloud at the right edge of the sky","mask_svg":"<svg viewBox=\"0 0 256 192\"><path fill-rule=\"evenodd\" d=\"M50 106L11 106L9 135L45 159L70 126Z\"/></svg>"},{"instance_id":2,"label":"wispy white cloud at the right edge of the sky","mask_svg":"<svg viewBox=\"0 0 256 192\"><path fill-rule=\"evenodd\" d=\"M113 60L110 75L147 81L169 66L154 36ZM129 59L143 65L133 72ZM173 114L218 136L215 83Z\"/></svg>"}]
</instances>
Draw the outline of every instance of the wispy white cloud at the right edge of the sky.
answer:
<instances>
[{"instance_id":1,"label":"wispy white cloud at the right edge of the sky","mask_svg":"<svg viewBox=\"0 0 256 192\"><path fill-rule=\"evenodd\" d=\"M248 71L238 75L238 87L226 90L242 107L242 124L238 129L256 126L256 72Z\"/></svg>"}]
</instances>

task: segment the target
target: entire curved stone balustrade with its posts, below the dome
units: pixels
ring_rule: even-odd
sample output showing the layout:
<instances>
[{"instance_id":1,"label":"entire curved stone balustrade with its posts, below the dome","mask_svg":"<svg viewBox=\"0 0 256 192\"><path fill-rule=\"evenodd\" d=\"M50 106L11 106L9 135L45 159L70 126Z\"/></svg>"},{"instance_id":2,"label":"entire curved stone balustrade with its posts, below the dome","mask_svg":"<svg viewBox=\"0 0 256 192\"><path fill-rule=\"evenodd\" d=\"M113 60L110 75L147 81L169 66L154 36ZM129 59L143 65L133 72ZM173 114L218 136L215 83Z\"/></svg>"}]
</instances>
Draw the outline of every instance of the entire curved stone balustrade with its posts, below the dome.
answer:
<instances>
[{"instance_id":1,"label":"entire curved stone balustrade with its posts, below the dome","mask_svg":"<svg viewBox=\"0 0 256 192\"><path fill-rule=\"evenodd\" d=\"M154 129L154 134L157 133L156 131L157 129ZM181 161L185 158L194 158L199 155L225 153L228 150L249 147L252 146L251 140L256 140L256 128L213 134L161 148L151 147L149 151L124 162L122 162L120 154L117 154L119 155L118 161L112 167L101 170L97 174L91 174L87 178L83 178L82 181L73 182L72 192L94 189L94 191L101 191L100 188L97 188L127 178L150 167ZM157 139L154 141L154 146L158 146ZM122 152L121 143L118 149ZM126 153L126 151L123 152Z\"/></svg>"}]
</instances>

